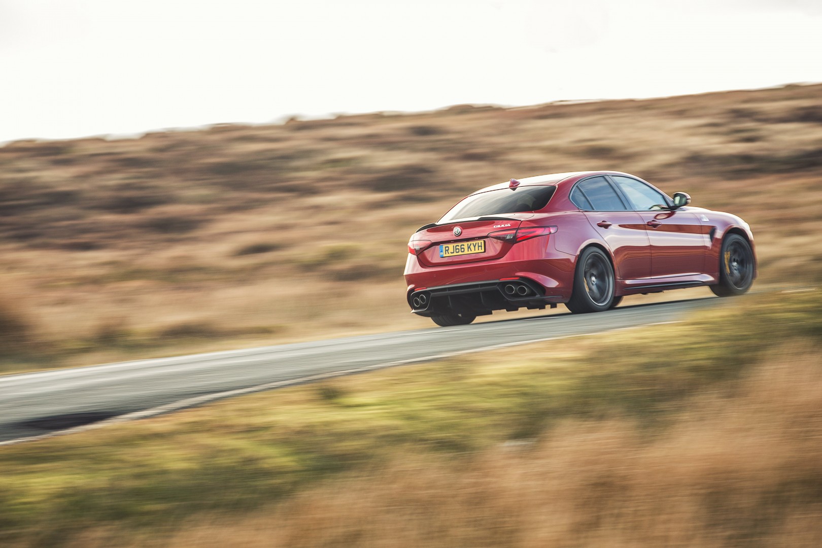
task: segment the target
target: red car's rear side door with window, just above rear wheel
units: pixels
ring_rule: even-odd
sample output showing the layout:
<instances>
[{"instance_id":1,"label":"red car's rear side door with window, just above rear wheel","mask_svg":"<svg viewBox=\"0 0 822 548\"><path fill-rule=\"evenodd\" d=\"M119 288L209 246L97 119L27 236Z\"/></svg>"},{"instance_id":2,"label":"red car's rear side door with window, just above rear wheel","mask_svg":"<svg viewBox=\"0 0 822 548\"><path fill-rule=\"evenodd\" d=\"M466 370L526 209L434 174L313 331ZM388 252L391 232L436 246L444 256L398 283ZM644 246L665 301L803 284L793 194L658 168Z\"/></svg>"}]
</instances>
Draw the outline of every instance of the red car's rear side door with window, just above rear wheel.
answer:
<instances>
[{"instance_id":1,"label":"red car's rear side door with window, just above rear wheel","mask_svg":"<svg viewBox=\"0 0 822 548\"><path fill-rule=\"evenodd\" d=\"M606 177L578 182L570 200L584 211L591 226L603 238L614 257L617 279L641 279L651 275L647 231L640 214L628 210L625 200Z\"/></svg>"}]
</instances>

